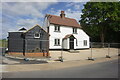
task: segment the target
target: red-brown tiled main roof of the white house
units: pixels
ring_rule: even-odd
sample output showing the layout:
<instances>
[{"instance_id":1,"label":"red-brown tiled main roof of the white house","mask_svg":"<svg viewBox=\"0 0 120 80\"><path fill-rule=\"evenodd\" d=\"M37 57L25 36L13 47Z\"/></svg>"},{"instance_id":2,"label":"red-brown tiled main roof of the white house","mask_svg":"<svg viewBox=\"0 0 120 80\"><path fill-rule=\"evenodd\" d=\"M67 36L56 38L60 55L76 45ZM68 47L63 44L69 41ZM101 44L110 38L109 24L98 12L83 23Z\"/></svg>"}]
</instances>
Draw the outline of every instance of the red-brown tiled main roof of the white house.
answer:
<instances>
[{"instance_id":1,"label":"red-brown tiled main roof of the white house","mask_svg":"<svg viewBox=\"0 0 120 80\"><path fill-rule=\"evenodd\" d=\"M55 16L55 15L47 15L47 16L51 24L81 28L81 26L78 24L78 22L75 19L67 18L67 17L61 18L61 16Z\"/></svg>"}]
</instances>

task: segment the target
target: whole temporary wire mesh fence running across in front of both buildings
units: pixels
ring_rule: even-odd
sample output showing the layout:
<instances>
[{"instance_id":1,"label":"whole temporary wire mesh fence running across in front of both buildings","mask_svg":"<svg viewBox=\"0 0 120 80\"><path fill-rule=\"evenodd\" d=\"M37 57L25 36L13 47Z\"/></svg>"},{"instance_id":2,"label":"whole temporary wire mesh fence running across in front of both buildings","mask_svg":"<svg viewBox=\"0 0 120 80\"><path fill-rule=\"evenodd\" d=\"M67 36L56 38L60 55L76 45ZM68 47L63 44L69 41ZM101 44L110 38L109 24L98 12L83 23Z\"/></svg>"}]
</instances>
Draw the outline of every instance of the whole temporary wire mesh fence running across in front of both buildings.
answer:
<instances>
[{"instance_id":1,"label":"whole temporary wire mesh fence running across in front of both buildings","mask_svg":"<svg viewBox=\"0 0 120 80\"><path fill-rule=\"evenodd\" d=\"M49 43L50 42L50 43ZM53 45L56 47L57 50L49 50L49 46L51 44L59 44L60 45ZM9 41L9 46L7 46L7 40L2 43L6 45L3 47L5 53L5 49L9 47L11 52L22 52L25 53L50 53L51 59L62 59L62 60L95 60L97 58L110 58L112 56L118 56L120 53L120 43L98 43L98 42L91 42L90 44L86 44L82 41L74 42L74 46L80 46L81 48L70 51L69 49L66 50L63 48L63 44L59 41L49 41L49 40L38 40L38 39L25 39L25 40L18 40L14 39ZM23 44L23 45L22 45ZM87 48L85 45L89 45ZM66 44L66 45L70 45ZM70 46L69 46L70 47ZM43 56L47 54L42 54Z\"/></svg>"}]
</instances>

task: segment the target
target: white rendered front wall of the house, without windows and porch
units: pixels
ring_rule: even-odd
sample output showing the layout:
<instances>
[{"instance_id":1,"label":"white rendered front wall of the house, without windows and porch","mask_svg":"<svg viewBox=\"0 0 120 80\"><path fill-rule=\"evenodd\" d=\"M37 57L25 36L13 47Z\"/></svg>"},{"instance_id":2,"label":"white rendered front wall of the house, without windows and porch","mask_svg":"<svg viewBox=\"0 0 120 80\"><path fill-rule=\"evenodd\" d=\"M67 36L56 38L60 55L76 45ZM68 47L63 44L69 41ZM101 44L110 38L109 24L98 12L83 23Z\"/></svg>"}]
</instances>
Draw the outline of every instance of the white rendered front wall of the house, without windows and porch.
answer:
<instances>
[{"instance_id":1,"label":"white rendered front wall of the house, without windows and porch","mask_svg":"<svg viewBox=\"0 0 120 80\"><path fill-rule=\"evenodd\" d=\"M62 48L62 39L68 35L73 34L74 37L77 39L78 46L76 46L76 40L74 40L74 48L75 49L82 49L82 48L89 48L89 36L82 30L77 29L78 34L73 34L73 28L72 27L66 27L66 26L60 26L60 32L54 32L54 25L49 25L49 34L50 34L50 43L49 48L50 49L61 49ZM60 46L54 46L54 39L60 39ZM87 40L87 46L83 45L83 40ZM68 45L65 48L69 48L69 39ZM65 44L64 44L65 45Z\"/></svg>"}]
</instances>

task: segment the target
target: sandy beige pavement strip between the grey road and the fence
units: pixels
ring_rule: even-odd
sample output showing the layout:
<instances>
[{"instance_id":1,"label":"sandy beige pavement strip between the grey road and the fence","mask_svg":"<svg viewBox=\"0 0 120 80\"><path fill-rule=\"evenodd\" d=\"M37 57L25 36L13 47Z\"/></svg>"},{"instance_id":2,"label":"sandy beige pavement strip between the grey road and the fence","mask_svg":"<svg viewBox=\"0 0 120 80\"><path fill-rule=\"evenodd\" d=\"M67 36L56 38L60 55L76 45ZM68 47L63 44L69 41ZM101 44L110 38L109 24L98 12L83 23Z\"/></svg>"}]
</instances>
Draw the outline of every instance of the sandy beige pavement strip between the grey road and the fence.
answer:
<instances>
[{"instance_id":1,"label":"sandy beige pavement strip between the grey road and the fence","mask_svg":"<svg viewBox=\"0 0 120 80\"><path fill-rule=\"evenodd\" d=\"M101 63L106 61L117 60L118 56L112 58L99 58L95 61L90 60L77 60L77 61L65 61L65 62L51 62L48 64L17 64L17 65L5 65L4 71L6 72L20 72L20 71L37 71L37 70L54 70L63 69L76 66L87 66L89 64ZM3 72L4 72L3 71Z\"/></svg>"}]
</instances>

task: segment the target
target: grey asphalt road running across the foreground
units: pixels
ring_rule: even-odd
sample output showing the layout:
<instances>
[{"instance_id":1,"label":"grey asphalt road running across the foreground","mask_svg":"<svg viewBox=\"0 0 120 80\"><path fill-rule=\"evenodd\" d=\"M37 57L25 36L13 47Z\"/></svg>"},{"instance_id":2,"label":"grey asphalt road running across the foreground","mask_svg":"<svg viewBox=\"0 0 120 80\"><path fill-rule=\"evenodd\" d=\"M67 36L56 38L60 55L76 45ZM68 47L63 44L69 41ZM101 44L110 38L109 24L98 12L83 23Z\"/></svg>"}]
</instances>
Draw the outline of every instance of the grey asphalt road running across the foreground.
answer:
<instances>
[{"instance_id":1,"label":"grey asphalt road running across the foreground","mask_svg":"<svg viewBox=\"0 0 120 80\"><path fill-rule=\"evenodd\" d=\"M9 72L3 73L3 78L118 78L118 60L64 69Z\"/></svg>"}]
</instances>

